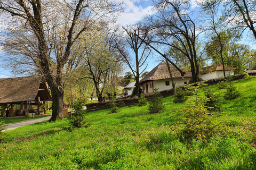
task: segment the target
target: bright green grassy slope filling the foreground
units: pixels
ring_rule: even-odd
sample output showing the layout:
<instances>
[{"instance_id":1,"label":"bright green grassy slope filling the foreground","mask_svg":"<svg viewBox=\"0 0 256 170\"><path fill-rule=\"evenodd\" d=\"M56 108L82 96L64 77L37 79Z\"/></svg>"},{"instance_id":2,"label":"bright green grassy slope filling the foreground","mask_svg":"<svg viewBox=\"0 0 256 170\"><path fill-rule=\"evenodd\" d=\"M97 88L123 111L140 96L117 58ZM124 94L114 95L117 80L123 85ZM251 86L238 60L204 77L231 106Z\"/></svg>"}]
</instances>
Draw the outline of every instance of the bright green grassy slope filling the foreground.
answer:
<instances>
[{"instance_id":1,"label":"bright green grassy slope filling the foreground","mask_svg":"<svg viewBox=\"0 0 256 170\"><path fill-rule=\"evenodd\" d=\"M0 169L256 169L256 78L233 83L242 94L234 100L223 99L220 85L209 87L220 96L224 137L180 141L171 125L189 104L173 104L171 96L163 113L124 107L87 113L91 125L72 132L63 129L67 120L7 131Z\"/></svg>"}]
</instances>

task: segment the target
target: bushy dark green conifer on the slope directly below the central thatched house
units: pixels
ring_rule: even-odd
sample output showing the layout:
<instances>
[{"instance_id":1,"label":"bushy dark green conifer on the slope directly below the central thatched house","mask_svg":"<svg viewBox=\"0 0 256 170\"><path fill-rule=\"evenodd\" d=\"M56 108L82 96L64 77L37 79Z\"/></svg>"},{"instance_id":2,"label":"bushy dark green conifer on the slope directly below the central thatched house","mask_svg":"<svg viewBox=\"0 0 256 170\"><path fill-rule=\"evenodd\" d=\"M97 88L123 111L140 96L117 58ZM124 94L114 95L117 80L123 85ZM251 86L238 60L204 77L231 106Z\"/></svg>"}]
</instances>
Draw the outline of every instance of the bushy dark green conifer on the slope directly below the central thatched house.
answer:
<instances>
[{"instance_id":1,"label":"bushy dark green conifer on the slope directly below the central thatched house","mask_svg":"<svg viewBox=\"0 0 256 170\"><path fill-rule=\"evenodd\" d=\"M155 92L148 103L148 110L150 113L163 112L165 109L165 106L163 104L163 96L159 92Z\"/></svg>"}]
</instances>

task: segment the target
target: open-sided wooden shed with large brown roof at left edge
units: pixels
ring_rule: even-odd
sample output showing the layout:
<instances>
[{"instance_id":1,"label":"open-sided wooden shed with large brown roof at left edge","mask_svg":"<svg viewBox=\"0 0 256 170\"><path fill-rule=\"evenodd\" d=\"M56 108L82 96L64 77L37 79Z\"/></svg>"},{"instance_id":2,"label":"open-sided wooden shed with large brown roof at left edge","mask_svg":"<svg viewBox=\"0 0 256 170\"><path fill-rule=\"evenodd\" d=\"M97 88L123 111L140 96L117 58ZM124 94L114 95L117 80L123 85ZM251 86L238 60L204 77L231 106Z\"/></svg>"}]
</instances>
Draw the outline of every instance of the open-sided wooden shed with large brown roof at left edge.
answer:
<instances>
[{"instance_id":1,"label":"open-sided wooden shed with large brown roof at left edge","mask_svg":"<svg viewBox=\"0 0 256 170\"><path fill-rule=\"evenodd\" d=\"M41 113L41 106L45 101L52 100L50 91L42 76L0 79L0 106L1 116L29 115L31 105L36 105L36 113ZM15 109L13 105L21 105Z\"/></svg>"}]
</instances>

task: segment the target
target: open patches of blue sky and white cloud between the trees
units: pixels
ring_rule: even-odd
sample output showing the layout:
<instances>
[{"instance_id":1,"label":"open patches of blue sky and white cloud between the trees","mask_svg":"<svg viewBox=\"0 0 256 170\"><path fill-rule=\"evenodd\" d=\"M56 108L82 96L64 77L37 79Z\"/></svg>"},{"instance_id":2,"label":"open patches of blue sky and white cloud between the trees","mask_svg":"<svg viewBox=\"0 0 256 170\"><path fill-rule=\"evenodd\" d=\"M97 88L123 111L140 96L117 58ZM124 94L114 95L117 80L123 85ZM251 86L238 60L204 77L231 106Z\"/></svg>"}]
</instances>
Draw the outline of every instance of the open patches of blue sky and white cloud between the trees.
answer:
<instances>
[{"instance_id":1,"label":"open patches of blue sky and white cloud between the trees","mask_svg":"<svg viewBox=\"0 0 256 170\"><path fill-rule=\"evenodd\" d=\"M203 0L198 0L198 1L203 1ZM124 8L124 12L121 13L118 16L117 23L121 24L122 26L126 25L131 25L135 24L143 19L144 16L147 14L153 14L153 8L152 5L153 3L150 0L116 0L117 3L122 3L122 6ZM196 5L196 0L191 0L192 2L192 7L197 7ZM244 38L241 43L243 44L250 44L249 39ZM252 45L252 43L250 44ZM253 48L256 49L256 45L254 44ZM1 47L0 47L0 53L1 53ZM154 58L149 58L147 64L147 70L150 71L154 69L156 65L158 65L161 60L161 57L159 57L158 54L154 54ZM158 58L158 60L157 60ZM130 71L127 69L126 71ZM126 72L125 71L125 72ZM7 70L4 68L4 65L1 63L0 60L0 78L11 78L11 77L19 77L21 75L15 76L14 74L11 73L10 70Z\"/></svg>"}]
</instances>

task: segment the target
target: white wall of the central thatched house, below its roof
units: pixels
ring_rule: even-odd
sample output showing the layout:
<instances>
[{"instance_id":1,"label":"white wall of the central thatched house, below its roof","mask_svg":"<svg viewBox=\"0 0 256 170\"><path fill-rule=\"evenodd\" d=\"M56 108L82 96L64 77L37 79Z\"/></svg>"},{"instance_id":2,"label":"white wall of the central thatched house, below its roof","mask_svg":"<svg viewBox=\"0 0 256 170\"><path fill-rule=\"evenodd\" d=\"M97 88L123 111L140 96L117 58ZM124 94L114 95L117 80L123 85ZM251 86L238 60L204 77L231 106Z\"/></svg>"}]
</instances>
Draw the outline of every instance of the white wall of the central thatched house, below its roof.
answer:
<instances>
[{"instance_id":1,"label":"white wall of the central thatched house, below its roof","mask_svg":"<svg viewBox=\"0 0 256 170\"><path fill-rule=\"evenodd\" d=\"M178 86L185 85L185 82L187 82L187 84L188 84L190 79L191 78L185 78L185 79L174 78L173 81L174 81L174 83L176 83L176 87L178 87ZM169 86L165 85L165 81L169 81ZM147 94L147 91L146 91L147 85L146 84L148 84L148 93L153 92L153 87L154 87L154 89L158 89L157 91L172 89L171 79L154 80L153 81L154 86L151 85L152 88L150 88L150 84L152 84L152 81L142 84L143 94Z\"/></svg>"}]
</instances>

